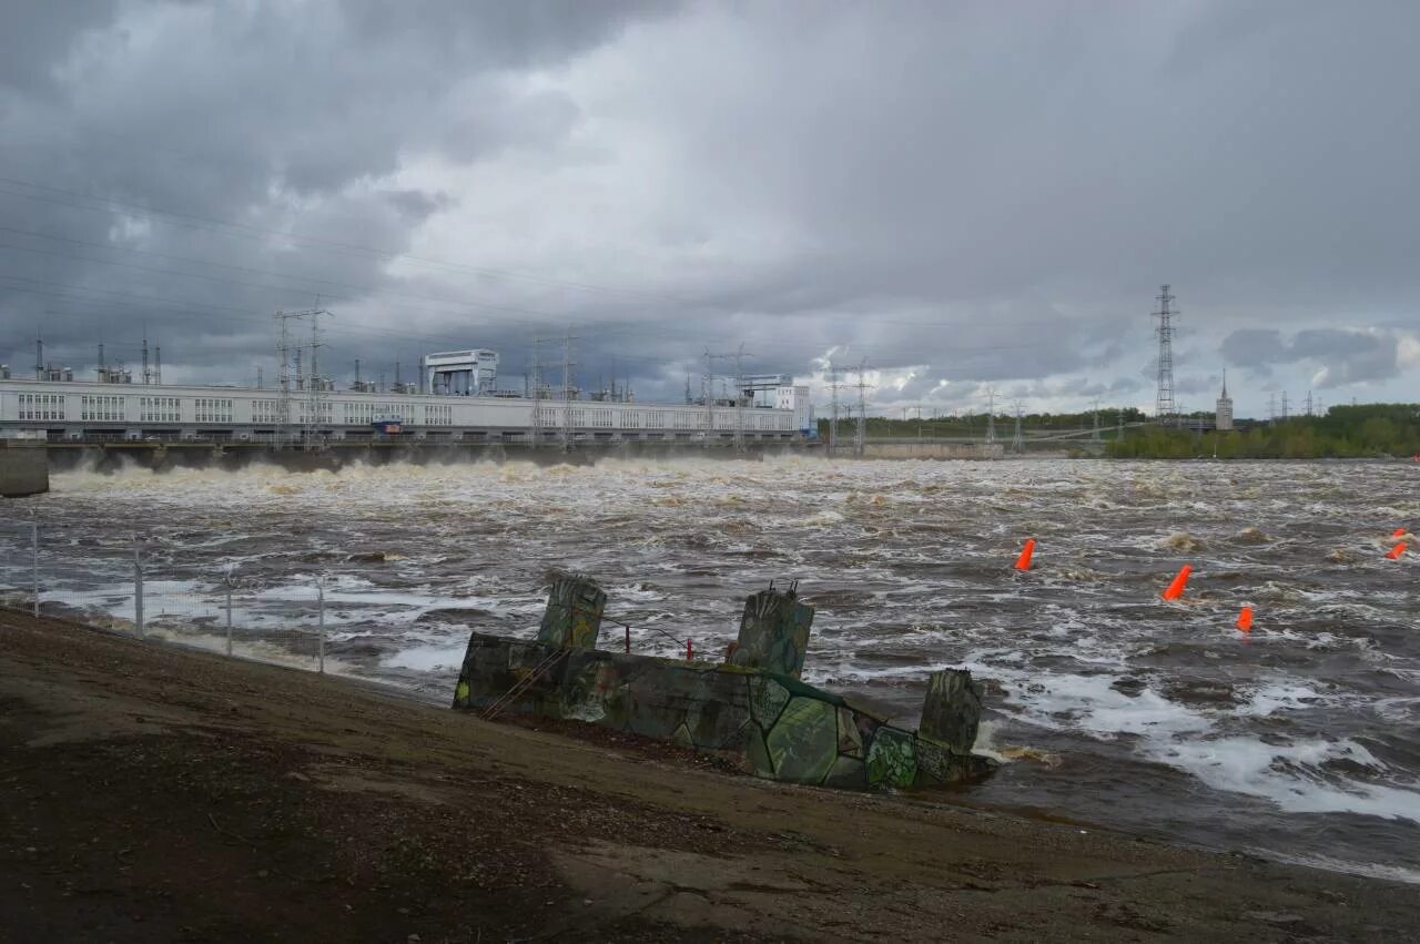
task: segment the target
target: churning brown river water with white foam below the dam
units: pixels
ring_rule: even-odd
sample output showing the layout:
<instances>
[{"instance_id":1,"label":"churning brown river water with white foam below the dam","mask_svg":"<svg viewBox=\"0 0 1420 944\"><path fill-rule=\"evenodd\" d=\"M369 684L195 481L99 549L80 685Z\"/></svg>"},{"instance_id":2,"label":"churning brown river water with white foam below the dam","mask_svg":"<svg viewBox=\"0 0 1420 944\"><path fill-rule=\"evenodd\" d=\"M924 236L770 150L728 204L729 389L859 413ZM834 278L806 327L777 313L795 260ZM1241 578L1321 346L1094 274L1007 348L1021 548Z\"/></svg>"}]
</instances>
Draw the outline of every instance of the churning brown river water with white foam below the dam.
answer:
<instances>
[{"instance_id":1,"label":"churning brown river water with white foam below the dam","mask_svg":"<svg viewBox=\"0 0 1420 944\"><path fill-rule=\"evenodd\" d=\"M744 595L797 579L818 608L808 680L906 723L933 669L988 683L980 747L1004 765L973 802L1420 882L1420 556L1383 556L1420 527L1420 467L778 459L53 484L0 508L36 512L47 600L131 618L143 531L151 592L210 613L233 568L240 644L310 664L281 629L322 572L332 664L444 697L467 630L530 635L555 569L601 579L638 652L674 652L663 630L706 657ZM1017 573L1028 537L1035 569ZM23 582L28 552L4 541Z\"/></svg>"}]
</instances>

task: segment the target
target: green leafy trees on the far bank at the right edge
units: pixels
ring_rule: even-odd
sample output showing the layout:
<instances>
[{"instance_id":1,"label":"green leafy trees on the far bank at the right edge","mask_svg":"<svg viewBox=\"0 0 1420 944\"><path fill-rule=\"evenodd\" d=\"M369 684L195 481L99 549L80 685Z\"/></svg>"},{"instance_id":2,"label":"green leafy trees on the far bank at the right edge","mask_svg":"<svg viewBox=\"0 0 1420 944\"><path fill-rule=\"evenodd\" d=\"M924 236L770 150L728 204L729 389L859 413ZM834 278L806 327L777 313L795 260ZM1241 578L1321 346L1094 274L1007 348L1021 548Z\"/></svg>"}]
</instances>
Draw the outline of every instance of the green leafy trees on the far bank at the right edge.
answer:
<instances>
[{"instance_id":1,"label":"green leafy trees on the far bank at the right edge","mask_svg":"<svg viewBox=\"0 0 1420 944\"><path fill-rule=\"evenodd\" d=\"M1110 441L1115 459L1363 459L1420 454L1420 405L1333 406L1322 416L1257 423L1228 433L1149 426Z\"/></svg>"}]
</instances>

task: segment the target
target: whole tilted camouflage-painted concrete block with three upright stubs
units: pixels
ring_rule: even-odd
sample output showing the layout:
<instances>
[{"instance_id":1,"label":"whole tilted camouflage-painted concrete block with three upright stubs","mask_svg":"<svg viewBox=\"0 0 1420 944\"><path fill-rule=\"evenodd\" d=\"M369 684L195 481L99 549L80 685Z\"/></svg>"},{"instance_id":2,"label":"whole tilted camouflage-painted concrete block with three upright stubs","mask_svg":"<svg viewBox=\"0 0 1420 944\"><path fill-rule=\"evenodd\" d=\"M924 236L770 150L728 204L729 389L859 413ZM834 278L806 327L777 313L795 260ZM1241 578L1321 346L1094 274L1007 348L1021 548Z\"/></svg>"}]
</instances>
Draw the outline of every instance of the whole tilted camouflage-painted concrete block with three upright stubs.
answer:
<instances>
[{"instance_id":1,"label":"whole tilted camouflage-painted concrete block with three upright stubs","mask_svg":"<svg viewBox=\"0 0 1420 944\"><path fill-rule=\"evenodd\" d=\"M966 670L932 673L919 731L799 681L814 609L792 588L750 596L724 663L595 649L605 600L592 581L564 578L537 642L471 633L454 708L589 721L720 754L754 776L791 784L932 786L995 767L971 754L981 687Z\"/></svg>"}]
</instances>

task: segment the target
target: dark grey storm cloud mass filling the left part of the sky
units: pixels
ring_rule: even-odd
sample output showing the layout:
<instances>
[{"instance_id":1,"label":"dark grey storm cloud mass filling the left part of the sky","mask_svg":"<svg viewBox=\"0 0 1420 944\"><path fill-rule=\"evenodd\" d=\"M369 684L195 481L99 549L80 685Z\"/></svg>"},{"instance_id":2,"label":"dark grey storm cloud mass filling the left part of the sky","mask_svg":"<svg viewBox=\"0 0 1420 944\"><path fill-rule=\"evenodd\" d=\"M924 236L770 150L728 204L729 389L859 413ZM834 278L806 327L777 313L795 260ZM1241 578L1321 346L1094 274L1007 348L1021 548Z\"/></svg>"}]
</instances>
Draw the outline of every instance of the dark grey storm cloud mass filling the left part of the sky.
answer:
<instances>
[{"instance_id":1,"label":"dark grey storm cloud mass filling the left part of the sky","mask_svg":"<svg viewBox=\"0 0 1420 944\"><path fill-rule=\"evenodd\" d=\"M20 27L4 33L14 48L0 74L7 328L43 325L57 358L85 363L98 339L132 355L146 325L173 359L229 366L222 338L260 336L263 318L270 335L277 307L419 281L390 275L381 253L409 250L416 227L453 200L382 179L406 152L466 163L551 141L575 108L525 92L510 70L606 41L643 9L422 3L408 17L379 3L33 3L7 13ZM274 236L284 231L298 238ZM471 311L457 292L443 297L405 300L413 318L390 300L395 324L361 325L345 346L358 356L420 319L437 334ZM409 346L412 358L427 345ZM268 351L270 338L247 348L241 376Z\"/></svg>"}]
</instances>

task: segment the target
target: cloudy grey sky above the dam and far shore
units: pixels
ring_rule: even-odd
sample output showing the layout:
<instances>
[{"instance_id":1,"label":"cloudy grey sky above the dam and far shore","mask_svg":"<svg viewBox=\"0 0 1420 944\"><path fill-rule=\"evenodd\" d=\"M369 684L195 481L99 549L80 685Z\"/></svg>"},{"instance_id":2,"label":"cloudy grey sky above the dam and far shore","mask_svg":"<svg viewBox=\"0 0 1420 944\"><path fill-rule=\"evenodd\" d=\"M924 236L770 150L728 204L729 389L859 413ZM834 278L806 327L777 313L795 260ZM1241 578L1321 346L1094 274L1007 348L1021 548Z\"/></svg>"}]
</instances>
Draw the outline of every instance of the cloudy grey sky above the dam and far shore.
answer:
<instances>
[{"instance_id":1,"label":"cloudy grey sky above the dam and far shore","mask_svg":"<svg viewBox=\"0 0 1420 944\"><path fill-rule=\"evenodd\" d=\"M1420 4L10 0L0 361L1420 400ZM564 338L571 336L571 341ZM537 352L537 353L534 353ZM709 361L733 375L736 358ZM842 392L856 400L859 390ZM1003 406L1004 409L1004 406Z\"/></svg>"}]
</instances>

